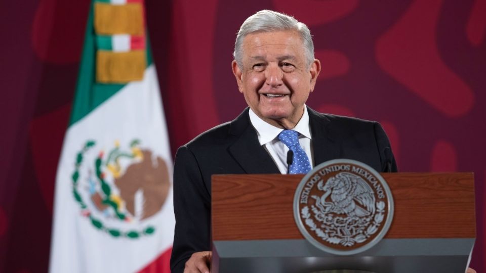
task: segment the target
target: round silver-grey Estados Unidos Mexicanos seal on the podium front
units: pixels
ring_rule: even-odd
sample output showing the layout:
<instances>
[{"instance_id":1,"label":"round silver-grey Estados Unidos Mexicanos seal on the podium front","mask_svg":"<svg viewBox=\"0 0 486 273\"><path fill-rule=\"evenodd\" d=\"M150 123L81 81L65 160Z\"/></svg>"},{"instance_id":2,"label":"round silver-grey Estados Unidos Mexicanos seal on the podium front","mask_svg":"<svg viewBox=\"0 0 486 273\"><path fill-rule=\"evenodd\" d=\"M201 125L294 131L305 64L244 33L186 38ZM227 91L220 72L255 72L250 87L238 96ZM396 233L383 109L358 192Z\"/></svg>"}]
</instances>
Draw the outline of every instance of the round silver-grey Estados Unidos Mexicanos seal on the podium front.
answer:
<instances>
[{"instance_id":1,"label":"round silver-grey Estados Unidos Mexicanos seal on the podium front","mask_svg":"<svg viewBox=\"0 0 486 273\"><path fill-rule=\"evenodd\" d=\"M383 177L355 160L319 164L300 181L294 217L317 248L352 255L376 245L393 219L393 198Z\"/></svg>"}]
</instances>

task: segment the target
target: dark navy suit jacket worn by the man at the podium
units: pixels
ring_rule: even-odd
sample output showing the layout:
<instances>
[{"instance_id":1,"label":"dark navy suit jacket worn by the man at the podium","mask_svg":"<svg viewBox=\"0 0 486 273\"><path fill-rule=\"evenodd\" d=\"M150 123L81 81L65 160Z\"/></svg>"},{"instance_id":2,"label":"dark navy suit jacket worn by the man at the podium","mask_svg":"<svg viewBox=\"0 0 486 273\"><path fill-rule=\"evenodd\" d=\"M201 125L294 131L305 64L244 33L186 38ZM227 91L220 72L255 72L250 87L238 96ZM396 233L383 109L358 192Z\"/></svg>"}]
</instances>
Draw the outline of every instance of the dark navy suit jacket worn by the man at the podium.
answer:
<instances>
[{"instance_id":1,"label":"dark navy suit jacket worn by the man at the podium","mask_svg":"<svg viewBox=\"0 0 486 273\"><path fill-rule=\"evenodd\" d=\"M200 134L177 151L173 273L183 272L192 253L210 250L211 175L280 173L258 142L248 111ZM346 158L379 172L397 170L390 143L378 122L321 114L310 108L308 113L315 165Z\"/></svg>"}]
</instances>

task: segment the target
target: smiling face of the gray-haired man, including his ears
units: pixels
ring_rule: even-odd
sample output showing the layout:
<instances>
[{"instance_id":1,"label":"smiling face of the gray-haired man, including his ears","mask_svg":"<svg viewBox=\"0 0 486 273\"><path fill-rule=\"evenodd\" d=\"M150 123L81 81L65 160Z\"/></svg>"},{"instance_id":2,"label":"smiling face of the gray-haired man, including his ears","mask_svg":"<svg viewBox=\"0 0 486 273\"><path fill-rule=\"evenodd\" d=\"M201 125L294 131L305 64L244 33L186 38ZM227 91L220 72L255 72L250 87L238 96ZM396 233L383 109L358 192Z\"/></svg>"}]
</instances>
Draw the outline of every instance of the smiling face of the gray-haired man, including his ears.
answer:
<instances>
[{"instance_id":1,"label":"smiling face of the gray-haired man, including his ears","mask_svg":"<svg viewBox=\"0 0 486 273\"><path fill-rule=\"evenodd\" d=\"M242 67L235 61L232 67L248 106L274 126L293 128L314 90L319 61L309 66L302 39L295 31L249 34L243 40L242 56Z\"/></svg>"}]
</instances>

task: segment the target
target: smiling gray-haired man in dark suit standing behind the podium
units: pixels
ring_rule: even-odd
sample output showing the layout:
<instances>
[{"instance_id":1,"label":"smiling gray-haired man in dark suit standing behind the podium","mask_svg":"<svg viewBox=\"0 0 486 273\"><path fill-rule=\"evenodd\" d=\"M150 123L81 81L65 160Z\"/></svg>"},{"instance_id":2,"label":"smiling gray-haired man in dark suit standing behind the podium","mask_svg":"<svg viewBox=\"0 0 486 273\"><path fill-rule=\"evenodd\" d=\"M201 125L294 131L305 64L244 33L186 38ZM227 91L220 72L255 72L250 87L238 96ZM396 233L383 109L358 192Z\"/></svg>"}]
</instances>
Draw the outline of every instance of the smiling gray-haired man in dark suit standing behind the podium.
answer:
<instances>
[{"instance_id":1,"label":"smiling gray-haired man in dark suit standing behind the podium","mask_svg":"<svg viewBox=\"0 0 486 273\"><path fill-rule=\"evenodd\" d=\"M377 171L396 171L380 124L305 106L320 71L313 52L309 29L293 17L260 11L241 26L232 68L249 108L177 152L173 272L209 272L211 175L288 173L297 164L288 160L282 131L296 135L295 153L307 165L348 158Z\"/></svg>"}]
</instances>

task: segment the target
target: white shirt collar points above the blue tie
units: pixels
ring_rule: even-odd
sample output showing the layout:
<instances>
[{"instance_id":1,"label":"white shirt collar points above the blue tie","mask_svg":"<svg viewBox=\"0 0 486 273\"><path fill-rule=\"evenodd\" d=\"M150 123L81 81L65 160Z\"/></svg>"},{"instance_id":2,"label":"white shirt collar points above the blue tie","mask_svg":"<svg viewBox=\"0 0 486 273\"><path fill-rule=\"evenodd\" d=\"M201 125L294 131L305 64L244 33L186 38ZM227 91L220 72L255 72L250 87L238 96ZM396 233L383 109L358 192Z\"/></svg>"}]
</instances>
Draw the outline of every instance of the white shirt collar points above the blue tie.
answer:
<instances>
[{"instance_id":1,"label":"white shirt collar points above the blue tie","mask_svg":"<svg viewBox=\"0 0 486 273\"><path fill-rule=\"evenodd\" d=\"M257 130L258 141L260 145L265 145L273 140L275 140L278 134L283 131L284 129L275 127L263 119L261 119L252 109L249 111L250 115L250 122L252 123L253 127ZM310 128L309 128L309 114L307 113L307 107L304 105L304 114L300 118L299 122L293 130L299 132L301 135L305 136L308 139L312 139L310 135Z\"/></svg>"}]
</instances>

